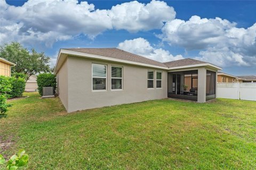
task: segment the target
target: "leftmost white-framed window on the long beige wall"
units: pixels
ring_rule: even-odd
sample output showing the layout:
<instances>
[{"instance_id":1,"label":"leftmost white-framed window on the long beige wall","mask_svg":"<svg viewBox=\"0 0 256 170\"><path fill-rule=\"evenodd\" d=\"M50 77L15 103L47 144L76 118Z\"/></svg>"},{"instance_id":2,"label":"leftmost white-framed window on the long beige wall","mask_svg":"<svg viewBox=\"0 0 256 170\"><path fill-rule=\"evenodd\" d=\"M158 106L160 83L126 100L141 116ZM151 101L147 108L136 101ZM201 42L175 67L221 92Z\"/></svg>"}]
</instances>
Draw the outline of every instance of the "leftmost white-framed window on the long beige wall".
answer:
<instances>
[{"instance_id":1,"label":"leftmost white-framed window on the long beige wall","mask_svg":"<svg viewBox=\"0 0 256 170\"><path fill-rule=\"evenodd\" d=\"M92 64L92 90L107 90L107 65Z\"/></svg>"}]
</instances>

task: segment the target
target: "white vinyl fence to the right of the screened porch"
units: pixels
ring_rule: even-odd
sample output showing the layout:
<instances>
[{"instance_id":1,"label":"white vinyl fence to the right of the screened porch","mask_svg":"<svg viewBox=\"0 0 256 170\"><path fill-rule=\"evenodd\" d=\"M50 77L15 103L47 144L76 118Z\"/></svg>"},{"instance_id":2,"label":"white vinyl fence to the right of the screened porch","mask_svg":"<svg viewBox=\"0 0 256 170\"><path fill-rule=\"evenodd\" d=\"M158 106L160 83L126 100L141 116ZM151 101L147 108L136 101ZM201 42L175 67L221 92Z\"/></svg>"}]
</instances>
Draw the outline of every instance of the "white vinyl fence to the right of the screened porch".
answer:
<instances>
[{"instance_id":1,"label":"white vinyl fence to the right of the screened porch","mask_svg":"<svg viewBox=\"0 0 256 170\"><path fill-rule=\"evenodd\" d=\"M256 83L217 83L217 98L256 101Z\"/></svg>"}]
</instances>

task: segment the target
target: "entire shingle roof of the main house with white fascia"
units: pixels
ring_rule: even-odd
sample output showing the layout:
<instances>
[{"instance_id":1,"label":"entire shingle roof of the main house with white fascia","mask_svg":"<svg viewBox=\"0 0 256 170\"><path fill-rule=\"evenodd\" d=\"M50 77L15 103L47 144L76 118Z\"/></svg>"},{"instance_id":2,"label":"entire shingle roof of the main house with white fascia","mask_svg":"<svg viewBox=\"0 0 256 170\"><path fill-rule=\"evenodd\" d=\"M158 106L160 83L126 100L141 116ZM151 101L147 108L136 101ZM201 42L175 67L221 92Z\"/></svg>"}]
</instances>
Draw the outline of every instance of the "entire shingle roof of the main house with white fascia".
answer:
<instances>
[{"instance_id":1,"label":"entire shingle roof of the main house with white fascia","mask_svg":"<svg viewBox=\"0 0 256 170\"><path fill-rule=\"evenodd\" d=\"M172 61L161 63L155 60L150 60L149 58L142 57L136 54L126 52L125 50L118 48L61 48L57 63L55 65L54 73L57 73L62 65L65 62L67 56L78 56L85 58L93 58L97 60L106 60L119 63L127 63L133 65L141 65L147 67L155 67L157 69L163 70L177 70L184 69L188 67L199 67L207 66L214 69L221 70L221 67L213 65L211 63L194 60L191 58L186 58L183 60Z\"/></svg>"}]
</instances>

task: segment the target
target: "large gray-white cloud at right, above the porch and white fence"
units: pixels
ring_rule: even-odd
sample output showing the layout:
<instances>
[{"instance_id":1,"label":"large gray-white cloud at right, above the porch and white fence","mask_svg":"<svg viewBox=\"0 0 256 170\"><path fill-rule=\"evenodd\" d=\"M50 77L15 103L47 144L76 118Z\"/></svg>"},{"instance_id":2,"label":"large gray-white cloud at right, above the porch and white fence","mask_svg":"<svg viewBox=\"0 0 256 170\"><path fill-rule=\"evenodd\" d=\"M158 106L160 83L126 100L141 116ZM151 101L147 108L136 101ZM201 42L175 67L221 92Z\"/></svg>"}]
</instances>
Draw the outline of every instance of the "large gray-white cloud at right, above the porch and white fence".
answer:
<instances>
[{"instance_id":1,"label":"large gray-white cloud at right, above the porch and white fence","mask_svg":"<svg viewBox=\"0 0 256 170\"><path fill-rule=\"evenodd\" d=\"M171 46L201 50L198 60L225 67L256 65L256 23L245 29L221 18L191 16L188 21L166 22L162 32L158 37Z\"/></svg>"}]
</instances>

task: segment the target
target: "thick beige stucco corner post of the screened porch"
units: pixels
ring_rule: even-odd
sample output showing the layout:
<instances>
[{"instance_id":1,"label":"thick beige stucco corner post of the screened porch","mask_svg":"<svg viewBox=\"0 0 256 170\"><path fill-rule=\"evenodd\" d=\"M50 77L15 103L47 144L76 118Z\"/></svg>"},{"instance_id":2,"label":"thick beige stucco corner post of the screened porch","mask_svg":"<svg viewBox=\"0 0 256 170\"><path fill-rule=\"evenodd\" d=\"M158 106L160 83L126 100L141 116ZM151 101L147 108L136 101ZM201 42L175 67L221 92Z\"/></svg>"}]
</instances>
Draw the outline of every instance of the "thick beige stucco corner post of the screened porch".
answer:
<instances>
[{"instance_id":1,"label":"thick beige stucco corner post of the screened porch","mask_svg":"<svg viewBox=\"0 0 256 170\"><path fill-rule=\"evenodd\" d=\"M206 101L206 69L201 67L198 69L198 89L197 102L205 103Z\"/></svg>"}]
</instances>

